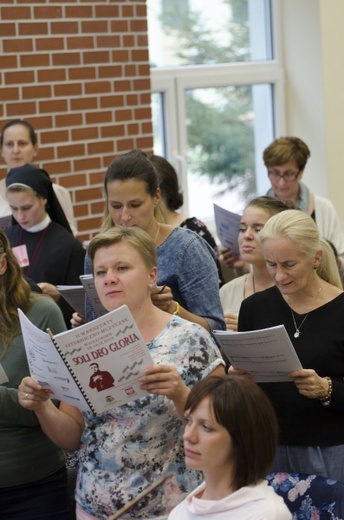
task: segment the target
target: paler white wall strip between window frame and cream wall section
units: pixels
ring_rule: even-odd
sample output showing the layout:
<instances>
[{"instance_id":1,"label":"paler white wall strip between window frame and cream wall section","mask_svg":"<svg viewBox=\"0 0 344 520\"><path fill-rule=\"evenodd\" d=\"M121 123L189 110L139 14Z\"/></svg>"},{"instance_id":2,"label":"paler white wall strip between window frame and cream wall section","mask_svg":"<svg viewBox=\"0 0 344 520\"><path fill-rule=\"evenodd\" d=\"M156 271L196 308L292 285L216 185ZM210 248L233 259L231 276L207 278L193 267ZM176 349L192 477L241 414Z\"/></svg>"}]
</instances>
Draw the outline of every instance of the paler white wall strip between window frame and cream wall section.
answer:
<instances>
[{"instance_id":1,"label":"paler white wall strip between window frame and cream wall section","mask_svg":"<svg viewBox=\"0 0 344 520\"><path fill-rule=\"evenodd\" d=\"M286 135L303 139L311 150L303 180L327 196L324 92L317 0L281 0L285 65Z\"/></svg>"}]
</instances>

